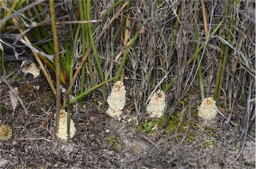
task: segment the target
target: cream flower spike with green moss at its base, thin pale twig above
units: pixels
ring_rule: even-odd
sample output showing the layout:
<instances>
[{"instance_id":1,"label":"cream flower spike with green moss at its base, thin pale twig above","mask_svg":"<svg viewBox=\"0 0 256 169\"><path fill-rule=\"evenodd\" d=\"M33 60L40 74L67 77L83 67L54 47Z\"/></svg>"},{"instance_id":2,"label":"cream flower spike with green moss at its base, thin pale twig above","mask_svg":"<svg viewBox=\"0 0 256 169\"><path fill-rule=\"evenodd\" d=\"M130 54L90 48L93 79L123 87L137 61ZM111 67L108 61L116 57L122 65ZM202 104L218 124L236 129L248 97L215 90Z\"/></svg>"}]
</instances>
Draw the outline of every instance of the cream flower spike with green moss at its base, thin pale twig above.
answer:
<instances>
[{"instance_id":1,"label":"cream flower spike with green moss at its base, thin pale twig above","mask_svg":"<svg viewBox=\"0 0 256 169\"><path fill-rule=\"evenodd\" d=\"M165 92L158 90L151 96L147 104L147 113L150 117L161 118L165 110Z\"/></svg>"}]
</instances>

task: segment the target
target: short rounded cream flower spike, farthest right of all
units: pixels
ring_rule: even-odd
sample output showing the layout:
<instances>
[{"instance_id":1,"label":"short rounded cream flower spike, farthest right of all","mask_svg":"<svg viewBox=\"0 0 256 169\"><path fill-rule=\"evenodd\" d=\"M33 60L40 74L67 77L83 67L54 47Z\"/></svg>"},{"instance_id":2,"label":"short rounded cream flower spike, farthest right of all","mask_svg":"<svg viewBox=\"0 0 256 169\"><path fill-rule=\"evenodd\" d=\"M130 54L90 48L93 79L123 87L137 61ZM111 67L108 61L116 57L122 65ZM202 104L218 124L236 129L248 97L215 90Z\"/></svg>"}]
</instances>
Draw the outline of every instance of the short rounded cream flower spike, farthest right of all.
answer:
<instances>
[{"instance_id":1,"label":"short rounded cream flower spike, farthest right of all","mask_svg":"<svg viewBox=\"0 0 256 169\"><path fill-rule=\"evenodd\" d=\"M205 98L198 108L198 115L205 120L212 120L217 115L217 106L212 97Z\"/></svg>"}]
</instances>

